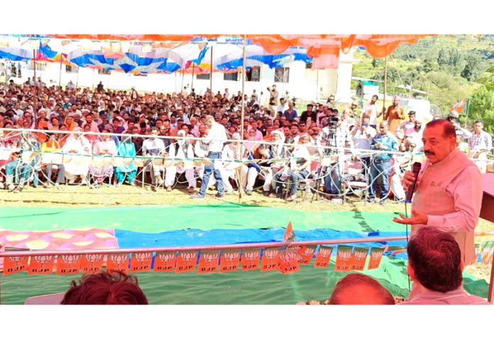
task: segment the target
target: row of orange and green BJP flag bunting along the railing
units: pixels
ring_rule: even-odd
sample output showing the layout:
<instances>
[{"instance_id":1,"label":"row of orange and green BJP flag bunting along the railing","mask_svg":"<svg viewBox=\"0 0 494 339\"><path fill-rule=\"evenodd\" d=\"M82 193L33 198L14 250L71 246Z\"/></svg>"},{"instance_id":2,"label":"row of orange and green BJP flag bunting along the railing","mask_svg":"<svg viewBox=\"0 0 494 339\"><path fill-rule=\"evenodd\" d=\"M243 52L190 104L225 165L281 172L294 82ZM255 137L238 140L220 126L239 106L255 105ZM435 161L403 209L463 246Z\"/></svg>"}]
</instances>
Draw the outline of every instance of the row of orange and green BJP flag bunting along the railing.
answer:
<instances>
[{"instance_id":1,"label":"row of orange and green BJP flag bunting along the railing","mask_svg":"<svg viewBox=\"0 0 494 339\"><path fill-rule=\"evenodd\" d=\"M11 256L4 258L4 275L28 271L28 274L94 274L103 270L131 273L153 270L180 274L195 271L197 273L215 273L237 271L280 271L292 274L300 271L300 265L309 265L314 259L315 268L329 267L331 254L336 249L335 271L363 271L380 266L384 248L352 247L338 245L298 245L293 244L295 232L289 222L283 235L282 247L254 249L214 249L201 251L164 251L134 252L114 254L60 254ZM494 242L485 242L481 246L482 262L492 263ZM130 255L130 258L129 258Z\"/></svg>"}]
</instances>

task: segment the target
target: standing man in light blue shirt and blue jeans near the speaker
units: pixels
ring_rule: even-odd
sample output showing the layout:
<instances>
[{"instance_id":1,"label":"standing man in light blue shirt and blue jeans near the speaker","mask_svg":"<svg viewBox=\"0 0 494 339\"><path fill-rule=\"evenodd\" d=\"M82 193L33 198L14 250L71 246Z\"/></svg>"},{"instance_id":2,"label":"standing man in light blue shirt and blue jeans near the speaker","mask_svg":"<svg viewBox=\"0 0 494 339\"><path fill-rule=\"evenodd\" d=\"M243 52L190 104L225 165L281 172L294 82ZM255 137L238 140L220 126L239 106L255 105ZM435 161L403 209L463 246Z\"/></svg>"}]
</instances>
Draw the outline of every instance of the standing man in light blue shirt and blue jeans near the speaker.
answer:
<instances>
[{"instance_id":1,"label":"standing man in light blue shirt and blue jeans near the speaker","mask_svg":"<svg viewBox=\"0 0 494 339\"><path fill-rule=\"evenodd\" d=\"M388 127L388 122L381 122L379 124L380 133L376 134L370 144L371 149L382 150L382 151L398 151L398 140L396 136L391 134ZM380 204L385 205L386 196L388 195L389 189L389 176L391 170L391 158L393 154L380 153L375 154L370 163L370 192L369 192L369 203L373 203L375 200L375 188L378 185L378 177L382 176L383 184L381 185L380 191Z\"/></svg>"}]
</instances>

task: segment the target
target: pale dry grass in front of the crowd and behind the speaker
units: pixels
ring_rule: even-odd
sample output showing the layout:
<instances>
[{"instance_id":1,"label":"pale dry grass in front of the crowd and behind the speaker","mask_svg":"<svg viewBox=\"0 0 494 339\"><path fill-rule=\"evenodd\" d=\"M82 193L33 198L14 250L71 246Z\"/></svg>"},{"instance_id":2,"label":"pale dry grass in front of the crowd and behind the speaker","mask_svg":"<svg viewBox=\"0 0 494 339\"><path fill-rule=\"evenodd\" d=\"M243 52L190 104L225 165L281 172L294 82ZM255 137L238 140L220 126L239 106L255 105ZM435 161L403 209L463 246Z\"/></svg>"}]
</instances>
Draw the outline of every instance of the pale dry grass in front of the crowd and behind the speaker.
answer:
<instances>
[{"instance_id":1,"label":"pale dry grass in front of the crowd and behind the speaker","mask_svg":"<svg viewBox=\"0 0 494 339\"><path fill-rule=\"evenodd\" d=\"M55 188L26 187L21 193L9 193L0 191L0 204L2 206L16 207L62 207L62 208L104 208L124 205L187 205L187 204L214 204L214 203L244 203L248 205L270 206L274 208L289 208L299 211L361 211L361 212L402 212L405 213L405 205L388 200L384 206L379 204L364 204L357 197L350 197L344 205L329 203L319 198L311 201L312 194L307 195L304 201L299 196L297 200L287 203L277 199L273 195L265 197L256 191L252 195L243 194L239 199L238 193L226 195L225 198L214 198L216 190L208 190L204 200L192 200L185 188L175 188L167 192L163 188L158 192L145 188L123 185L119 188L102 185L100 188L90 189L87 186L67 185L62 190ZM410 212L410 211L409 211ZM480 219L476 231L494 231L494 223ZM476 237L476 243L493 241L494 236ZM466 271L477 279L490 279L490 265L477 263L466 267Z\"/></svg>"}]
</instances>

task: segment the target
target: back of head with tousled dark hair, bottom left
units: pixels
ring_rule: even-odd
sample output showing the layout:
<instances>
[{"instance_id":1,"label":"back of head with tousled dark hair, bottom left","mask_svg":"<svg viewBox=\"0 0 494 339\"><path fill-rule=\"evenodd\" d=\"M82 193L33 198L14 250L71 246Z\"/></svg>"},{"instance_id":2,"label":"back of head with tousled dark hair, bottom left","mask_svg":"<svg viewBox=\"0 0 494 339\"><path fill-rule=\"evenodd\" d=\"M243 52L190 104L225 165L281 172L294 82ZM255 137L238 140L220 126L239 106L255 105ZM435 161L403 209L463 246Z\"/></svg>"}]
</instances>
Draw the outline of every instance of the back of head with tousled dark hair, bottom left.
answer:
<instances>
[{"instance_id":1,"label":"back of head with tousled dark hair, bottom left","mask_svg":"<svg viewBox=\"0 0 494 339\"><path fill-rule=\"evenodd\" d=\"M147 305L148 299L136 276L123 272L106 272L83 276L77 285L72 281L62 305Z\"/></svg>"}]
</instances>

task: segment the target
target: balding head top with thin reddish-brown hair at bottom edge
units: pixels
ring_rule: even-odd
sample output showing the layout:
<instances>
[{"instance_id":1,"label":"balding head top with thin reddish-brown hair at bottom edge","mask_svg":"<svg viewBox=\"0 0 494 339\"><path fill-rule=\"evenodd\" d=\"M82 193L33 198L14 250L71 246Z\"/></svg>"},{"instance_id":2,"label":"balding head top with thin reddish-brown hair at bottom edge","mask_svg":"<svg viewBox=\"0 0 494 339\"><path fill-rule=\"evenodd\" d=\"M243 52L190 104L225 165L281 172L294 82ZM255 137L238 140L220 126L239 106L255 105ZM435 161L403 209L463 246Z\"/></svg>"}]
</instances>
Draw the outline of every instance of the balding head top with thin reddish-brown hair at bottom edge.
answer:
<instances>
[{"instance_id":1,"label":"balding head top with thin reddish-brown hair at bottom edge","mask_svg":"<svg viewBox=\"0 0 494 339\"><path fill-rule=\"evenodd\" d=\"M394 305L395 299L379 281L360 273L344 276L334 286L329 305Z\"/></svg>"}]
</instances>

